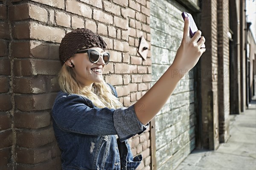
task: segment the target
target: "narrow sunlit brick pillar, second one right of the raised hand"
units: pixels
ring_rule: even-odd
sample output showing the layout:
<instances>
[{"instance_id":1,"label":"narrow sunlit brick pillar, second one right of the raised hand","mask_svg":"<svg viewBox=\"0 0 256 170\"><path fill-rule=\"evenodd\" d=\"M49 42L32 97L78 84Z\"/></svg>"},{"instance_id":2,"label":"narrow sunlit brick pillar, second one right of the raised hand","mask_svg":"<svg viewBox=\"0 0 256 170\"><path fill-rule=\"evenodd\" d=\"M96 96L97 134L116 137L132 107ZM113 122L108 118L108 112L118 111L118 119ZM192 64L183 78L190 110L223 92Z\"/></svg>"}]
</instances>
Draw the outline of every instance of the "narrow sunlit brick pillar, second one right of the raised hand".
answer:
<instances>
[{"instance_id":1,"label":"narrow sunlit brick pillar, second one right of the raised hand","mask_svg":"<svg viewBox=\"0 0 256 170\"><path fill-rule=\"evenodd\" d=\"M229 138L230 114L230 56L229 1L218 0L218 114L220 143Z\"/></svg>"}]
</instances>

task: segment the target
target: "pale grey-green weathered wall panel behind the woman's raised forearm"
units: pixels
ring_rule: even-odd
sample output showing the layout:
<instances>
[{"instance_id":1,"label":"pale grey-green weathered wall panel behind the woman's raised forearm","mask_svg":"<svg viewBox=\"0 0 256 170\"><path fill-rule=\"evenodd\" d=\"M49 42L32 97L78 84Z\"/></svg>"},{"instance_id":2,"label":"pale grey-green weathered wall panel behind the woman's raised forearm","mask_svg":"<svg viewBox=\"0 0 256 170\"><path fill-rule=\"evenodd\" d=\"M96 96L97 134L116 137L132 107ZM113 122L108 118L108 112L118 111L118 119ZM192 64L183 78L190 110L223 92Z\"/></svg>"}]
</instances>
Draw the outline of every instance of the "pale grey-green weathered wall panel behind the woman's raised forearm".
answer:
<instances>
[{"instance_id":1,"label":"pale grey-green weathered wall panel behind the woman's raised forearm","mask_svg":"<svg viewBox=\"0 0 256 170\"><path fill-rule=\"evenodd\" d=\"M180 46L187 12L176 1L151 0L152 83L172 64ZM157 169L175 169L195 148L194 74L178 83L155 117Z\"/></svg>"}]
</instances>

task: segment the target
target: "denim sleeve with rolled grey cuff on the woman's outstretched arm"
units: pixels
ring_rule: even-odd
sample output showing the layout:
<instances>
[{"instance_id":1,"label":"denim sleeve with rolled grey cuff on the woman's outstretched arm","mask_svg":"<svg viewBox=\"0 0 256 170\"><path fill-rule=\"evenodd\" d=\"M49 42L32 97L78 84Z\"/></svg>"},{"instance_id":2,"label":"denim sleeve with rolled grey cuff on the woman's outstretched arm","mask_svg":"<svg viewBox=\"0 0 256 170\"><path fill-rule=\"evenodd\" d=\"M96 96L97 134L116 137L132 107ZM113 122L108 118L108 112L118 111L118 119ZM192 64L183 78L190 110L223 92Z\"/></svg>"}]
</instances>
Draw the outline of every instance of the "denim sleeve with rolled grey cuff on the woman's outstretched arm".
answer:
<instances>
[{"instance_id":1,"label":"denim sleeve with rolled grey cuff on the woman's outstretched arm","mask_svg":"<svg viewBox=\"0 0 256 170\"><path fill-rule=\"evenodd\" d=\"M118 109L89 107L88 100L76 94L62 95L55 100L52 118L63 130L86 135L118 135L121 142L147 129L138 121L134 105Z\"/></svg>"}]
</instances>

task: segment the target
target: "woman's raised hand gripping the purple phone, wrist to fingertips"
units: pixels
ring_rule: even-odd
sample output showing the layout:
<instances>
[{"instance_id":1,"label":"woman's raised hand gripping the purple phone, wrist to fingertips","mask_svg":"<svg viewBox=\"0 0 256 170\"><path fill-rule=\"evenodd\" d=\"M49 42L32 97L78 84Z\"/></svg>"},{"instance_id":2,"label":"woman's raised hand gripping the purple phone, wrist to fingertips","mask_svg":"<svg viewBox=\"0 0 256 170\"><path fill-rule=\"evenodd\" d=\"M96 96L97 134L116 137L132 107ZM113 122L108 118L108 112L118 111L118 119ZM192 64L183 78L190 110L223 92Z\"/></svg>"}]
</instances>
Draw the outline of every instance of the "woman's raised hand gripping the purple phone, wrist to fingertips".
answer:
<instances>
[{"instance_id":1,"label":"woman's raised hand gripping the purple phone, wrist to fingertips","mask_svg":"<svg viewBox=\"0 0 256 170\"><path fill-rule=\"evenodd\" d=\"M188 18L188 17L187 17ZM184 21L183 38L180 47L177 49L173 65L177 68L180 76L183 77L198 62L201 55L205 52L205 48L201 46L205 42L204 36L201 37L201 31L198 30L195 35L189 37L189 20ZM198 42L197 42L198 41Z\"/></svg>"}]
</instances>

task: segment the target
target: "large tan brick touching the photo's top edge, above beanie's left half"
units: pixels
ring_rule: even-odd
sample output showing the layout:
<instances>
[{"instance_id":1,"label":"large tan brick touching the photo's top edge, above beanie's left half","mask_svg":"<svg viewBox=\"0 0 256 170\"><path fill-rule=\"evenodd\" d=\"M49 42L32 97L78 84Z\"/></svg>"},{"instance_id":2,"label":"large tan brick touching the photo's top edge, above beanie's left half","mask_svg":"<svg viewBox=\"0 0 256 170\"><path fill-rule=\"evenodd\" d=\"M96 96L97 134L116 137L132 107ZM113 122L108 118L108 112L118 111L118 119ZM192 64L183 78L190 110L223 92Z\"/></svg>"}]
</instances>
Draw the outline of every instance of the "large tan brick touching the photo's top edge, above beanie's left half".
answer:
<instances>
[{"instance_id":1,"label":"large tan brick touching the photo's top edge, above beanie's left half","mask_svg":"<svg viewBox=\"0 0 256 170\"><path fill-rule=\"evenodd\" d=\"M66 8L67 12L78 14L87 18L92 18L93 10L90 6L87 6L84 3L80 3L75 0L67 0Z\"/></svg>"}]
</instances>

